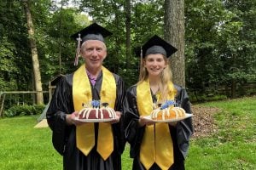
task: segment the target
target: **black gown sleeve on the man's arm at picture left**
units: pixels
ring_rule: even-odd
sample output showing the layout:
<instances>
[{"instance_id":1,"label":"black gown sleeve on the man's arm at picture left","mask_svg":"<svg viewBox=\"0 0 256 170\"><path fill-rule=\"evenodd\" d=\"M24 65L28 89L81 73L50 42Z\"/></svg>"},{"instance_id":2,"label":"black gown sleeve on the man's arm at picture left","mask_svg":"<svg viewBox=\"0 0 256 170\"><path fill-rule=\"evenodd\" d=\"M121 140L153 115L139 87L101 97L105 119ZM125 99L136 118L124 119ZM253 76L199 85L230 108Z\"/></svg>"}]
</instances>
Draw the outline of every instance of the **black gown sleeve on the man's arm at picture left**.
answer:
<instances>
[{"instance_id":1,"label":"black gown sleeve on the man's arm at picture left","mask_svg":"<svg viewBox=\"0 0 256 170\"><path fill-rule=\"evenodd\" d=\"M70 133L70 126L66 124L66 115L73 113L73 95L72 95L73 75L61 77L58 82L55 93L46 112L47 122L52 130L52 143L61 155L65 151L67 137Z\"/></svg>"}]
</instances>

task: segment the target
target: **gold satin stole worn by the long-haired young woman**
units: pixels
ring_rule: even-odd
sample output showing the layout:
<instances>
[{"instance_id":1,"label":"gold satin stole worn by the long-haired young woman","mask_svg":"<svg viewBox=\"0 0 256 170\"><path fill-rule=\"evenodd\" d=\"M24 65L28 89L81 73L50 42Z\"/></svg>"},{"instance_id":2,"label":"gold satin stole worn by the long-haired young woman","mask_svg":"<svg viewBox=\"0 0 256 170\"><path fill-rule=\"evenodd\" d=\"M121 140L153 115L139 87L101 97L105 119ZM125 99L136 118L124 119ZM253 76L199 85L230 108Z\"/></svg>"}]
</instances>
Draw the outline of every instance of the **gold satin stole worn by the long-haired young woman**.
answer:
<instances>
[{"instance_id":1,"label":"gold satin stole worn by the long-haired young woman","mask_svg":"<svg viewBox=\"0 0 256 170\"><path fill-rule=\"evenodd\" d=\"M175 90L172 82L168 83L168 90L168 99L174 99ZM153 111L148 80L137 85L137 107L141 116L148 116ZM173 144L168 123L156 123L145 127L140 160L146 169L152 167L154 162L161 169L168 169L172 166L174 162Z\"/></svg>"}]
</instances>

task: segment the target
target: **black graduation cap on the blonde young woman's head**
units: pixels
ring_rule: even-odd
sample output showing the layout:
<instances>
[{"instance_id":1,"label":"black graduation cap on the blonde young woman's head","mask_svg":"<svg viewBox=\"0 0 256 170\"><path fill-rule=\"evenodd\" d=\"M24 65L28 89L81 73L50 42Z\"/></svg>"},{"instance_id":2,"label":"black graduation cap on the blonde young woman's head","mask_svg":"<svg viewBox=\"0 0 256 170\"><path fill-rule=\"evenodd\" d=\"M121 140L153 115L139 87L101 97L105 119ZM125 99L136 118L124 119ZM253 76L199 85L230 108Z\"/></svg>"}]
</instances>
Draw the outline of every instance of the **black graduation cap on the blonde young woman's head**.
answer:
<instances>
[{"instance_id":1,"label":"black graduation cap on the blonde young woman's head","mask_svg":"<svg viewBox=\"0 0 256 170\"><path fill-rule=\"evenodd\" d=\"M137 56L145 58L148 54L163 54L168 58L177 51L177 48L174 48L170 43L154 35L148 42L144 43L141 50L137 50Z\"/></svg>"}]
</instances>

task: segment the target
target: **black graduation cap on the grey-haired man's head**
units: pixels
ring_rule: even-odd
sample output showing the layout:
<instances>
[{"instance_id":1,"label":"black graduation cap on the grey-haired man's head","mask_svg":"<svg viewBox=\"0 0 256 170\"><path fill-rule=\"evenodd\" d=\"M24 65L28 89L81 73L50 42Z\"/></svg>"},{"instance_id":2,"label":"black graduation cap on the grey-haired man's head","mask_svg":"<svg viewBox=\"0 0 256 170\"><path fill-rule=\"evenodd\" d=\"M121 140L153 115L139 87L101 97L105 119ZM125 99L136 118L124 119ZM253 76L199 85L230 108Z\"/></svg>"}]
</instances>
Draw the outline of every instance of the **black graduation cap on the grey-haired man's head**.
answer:
<instances>
[{"instance_id":1,"label":"black graduation cap on the grey-haired man's head","mask_svg":"<svg viewBox=\"0 0 256 170\"><path fill-rule=\"evenodd\" d=\"M108 37L111 35L112 32L108 31L107 29L96 23L93 23L90 26L85 27L83 30L73 34L71 37L74 40L78 40L78 38L80 37L80 44L82 44L86 40L99 40L101 42L104 42L104 37Z\"/></svg>"}]
</instances>

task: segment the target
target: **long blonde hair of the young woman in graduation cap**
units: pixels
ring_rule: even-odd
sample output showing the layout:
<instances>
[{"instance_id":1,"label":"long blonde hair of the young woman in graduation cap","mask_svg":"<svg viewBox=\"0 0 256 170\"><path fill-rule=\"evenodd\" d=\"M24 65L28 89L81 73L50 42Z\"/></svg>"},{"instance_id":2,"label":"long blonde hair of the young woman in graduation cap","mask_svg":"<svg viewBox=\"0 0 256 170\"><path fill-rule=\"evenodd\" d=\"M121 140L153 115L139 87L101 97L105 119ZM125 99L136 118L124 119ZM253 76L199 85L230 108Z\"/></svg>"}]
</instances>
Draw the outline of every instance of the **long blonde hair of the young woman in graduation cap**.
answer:
<instances>
[{"instance_id":1,"label":"long blonde hair of the young woman in graduation cap","mask_svg":"<svg viewBox=\"0 0 256 170\"><path fill-rule=\"evenodd\" d=\"M163 58L165 59L166 62L166 68L160 73L160 82L159 82L159 88L160 88L160 101L158 103L163 103L167 100L168 93L171 92L174 95L177 93L176 89L173 86L172 82L172 71L171 67L169 65L169 61L166 58L165 55L163 55ZM139 76L139 81L137 84L148 80L148 71L147 69L143 66L143 63L147 59L147 56L142 60L141 59L141 65L140 65L140 76ZM172 89L168 89L168 83L172 83Z\"/></svg>"}]
</instances>

